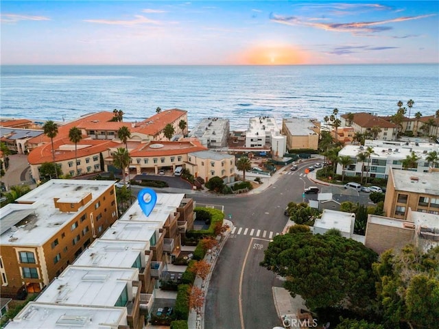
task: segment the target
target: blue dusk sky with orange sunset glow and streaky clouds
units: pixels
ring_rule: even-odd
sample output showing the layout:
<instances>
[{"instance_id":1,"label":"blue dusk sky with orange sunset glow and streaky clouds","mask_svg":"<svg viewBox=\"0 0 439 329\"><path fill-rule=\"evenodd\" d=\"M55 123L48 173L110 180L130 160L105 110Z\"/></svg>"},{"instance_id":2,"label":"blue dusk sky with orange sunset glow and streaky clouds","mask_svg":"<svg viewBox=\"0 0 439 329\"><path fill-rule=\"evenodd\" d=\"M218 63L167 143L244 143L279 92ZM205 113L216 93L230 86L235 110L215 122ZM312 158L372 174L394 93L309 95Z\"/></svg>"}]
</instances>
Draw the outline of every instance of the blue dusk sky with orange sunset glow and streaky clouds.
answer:
<instances>
[{"instance_id":1,"label":"blue dusk sky with orange sunset glow and streaky clouds","mask_svg":"<svg viewBox=\"0 0 439 329\"><path fill-rule=\"evenodd\" d=\"M439 62L439 1L1 1L1 64Z\"/></svg>"}]
</instances>

